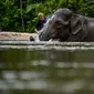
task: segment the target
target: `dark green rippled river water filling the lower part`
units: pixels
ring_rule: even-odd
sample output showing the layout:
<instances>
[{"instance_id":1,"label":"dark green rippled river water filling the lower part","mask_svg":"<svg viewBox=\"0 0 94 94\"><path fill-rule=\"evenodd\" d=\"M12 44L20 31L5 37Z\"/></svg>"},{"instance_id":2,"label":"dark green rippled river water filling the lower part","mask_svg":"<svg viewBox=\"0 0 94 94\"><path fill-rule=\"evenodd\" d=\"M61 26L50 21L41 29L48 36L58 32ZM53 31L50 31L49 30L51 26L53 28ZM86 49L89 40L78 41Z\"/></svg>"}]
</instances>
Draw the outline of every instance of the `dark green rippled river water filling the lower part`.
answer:
<instances>
[{"instance_id":1,"label":"dark green rippled river water filling the lower part","mask_svg":"<svg viewBox=\"0 0 94 94\"><path fill-rule=\"evenodd\" d=\"M0 42L0 94L94 94L90 43Z\"/></svg>"}]
</instances>

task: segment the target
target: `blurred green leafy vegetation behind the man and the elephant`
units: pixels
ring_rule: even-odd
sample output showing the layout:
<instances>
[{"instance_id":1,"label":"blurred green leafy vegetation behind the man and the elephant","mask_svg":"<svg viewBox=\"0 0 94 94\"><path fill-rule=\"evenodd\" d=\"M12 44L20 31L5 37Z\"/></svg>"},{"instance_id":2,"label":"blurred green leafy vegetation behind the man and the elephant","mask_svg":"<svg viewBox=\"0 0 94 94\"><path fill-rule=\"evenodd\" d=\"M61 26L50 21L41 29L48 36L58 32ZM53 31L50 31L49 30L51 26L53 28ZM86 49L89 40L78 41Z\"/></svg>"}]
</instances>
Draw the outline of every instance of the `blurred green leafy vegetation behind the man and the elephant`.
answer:
<instances>
[{"instance_id":1,"label":"blurred green leafy vegetation behind the man and the elephant","mask_svg":"<svg viewBox=\"0 0 94 94\"><path fill-rule=\"evenodd\" d=\"M50 18L59 8L94 17L94 0L0 0L0 30L32 33L39 12Z\"/></svg>"}]
</instances>

